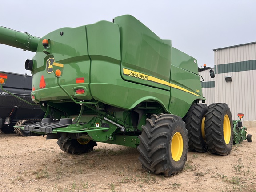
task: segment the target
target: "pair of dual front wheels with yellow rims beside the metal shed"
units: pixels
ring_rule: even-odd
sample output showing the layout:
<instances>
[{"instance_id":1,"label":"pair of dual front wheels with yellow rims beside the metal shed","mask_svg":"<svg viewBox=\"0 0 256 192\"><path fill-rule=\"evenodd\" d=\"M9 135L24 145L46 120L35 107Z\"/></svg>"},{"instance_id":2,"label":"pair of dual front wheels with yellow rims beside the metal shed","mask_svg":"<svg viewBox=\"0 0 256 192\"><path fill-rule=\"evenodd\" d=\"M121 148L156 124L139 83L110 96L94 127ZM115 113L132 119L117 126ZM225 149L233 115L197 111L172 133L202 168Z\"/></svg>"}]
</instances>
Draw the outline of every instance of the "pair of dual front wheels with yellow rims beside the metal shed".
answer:
<instances>
[{"instance_id":1,"label":"pair of dual front wheels with yellow rims beside the metal shed","mask_svg":"<svg viewBox=\"0 0 256 192\"><path fill-rule=\"evenodd\" d=\"M184 117L189 149L226 156L232 150L233 123L227 104L193 104Z\"/></svg>"}]
</instances>

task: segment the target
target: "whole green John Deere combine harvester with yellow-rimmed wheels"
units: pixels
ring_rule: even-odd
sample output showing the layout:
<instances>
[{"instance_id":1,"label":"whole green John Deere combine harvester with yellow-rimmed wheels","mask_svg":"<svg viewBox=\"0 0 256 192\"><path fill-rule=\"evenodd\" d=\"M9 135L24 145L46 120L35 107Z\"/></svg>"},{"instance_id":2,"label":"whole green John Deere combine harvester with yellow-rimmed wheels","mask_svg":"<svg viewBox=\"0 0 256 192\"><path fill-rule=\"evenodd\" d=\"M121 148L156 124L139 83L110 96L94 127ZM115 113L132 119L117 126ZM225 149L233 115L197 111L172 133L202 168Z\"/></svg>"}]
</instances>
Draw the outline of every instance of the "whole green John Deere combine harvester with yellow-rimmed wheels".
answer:
<instances>
[{"instance_id":1,"label":"whole green John Deere combine harvester with yellow-rimmed wheels","mask_svg":"<svg viewBox=\"0 0 256 192\"><path fill-rule=\"evenodd\" d=\"M37 47L30 47L32 39ZM205 98L198 71L208 68L133 16L23 40L29 41L23 49L36 52L25 62L33 75L31 98L51 116L24 130L58 139L68 153L92 151L96 142L134 147L147 171L164 176L184 167L188 147L230 153L228 105L199 103Z\"/></svg>"}]
</instances>

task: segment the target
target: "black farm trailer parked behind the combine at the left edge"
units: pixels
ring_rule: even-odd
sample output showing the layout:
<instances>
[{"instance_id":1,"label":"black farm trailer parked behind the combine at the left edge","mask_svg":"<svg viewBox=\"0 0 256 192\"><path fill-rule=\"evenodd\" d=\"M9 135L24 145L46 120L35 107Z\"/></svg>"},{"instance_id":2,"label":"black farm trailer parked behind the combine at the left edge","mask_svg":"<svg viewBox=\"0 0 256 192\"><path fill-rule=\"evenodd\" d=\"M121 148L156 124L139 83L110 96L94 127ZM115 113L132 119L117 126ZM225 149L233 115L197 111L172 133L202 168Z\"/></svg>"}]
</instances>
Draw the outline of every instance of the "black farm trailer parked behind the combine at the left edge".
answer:
<instances>
[{"instance_id":1,"label":"black farm trailer parked behind the combine at the left edge","mask_svg":"<svg viewBox=\"0 0 256 192\"><path fill-rule=\"evenodd\" d=\"M3 84L3 88L16 96L33 103L30 97L32 91L32 76L27 74L16 74L11 72L1 72L7 74L8 80ZM44 117L44 111L40 105L30 105L18 98L0 90L0 130L3 133L16 132L21 136L30 136L30 132L13 128L14 125L24 125L39 122Z\"/></svg>"}]
</instances>

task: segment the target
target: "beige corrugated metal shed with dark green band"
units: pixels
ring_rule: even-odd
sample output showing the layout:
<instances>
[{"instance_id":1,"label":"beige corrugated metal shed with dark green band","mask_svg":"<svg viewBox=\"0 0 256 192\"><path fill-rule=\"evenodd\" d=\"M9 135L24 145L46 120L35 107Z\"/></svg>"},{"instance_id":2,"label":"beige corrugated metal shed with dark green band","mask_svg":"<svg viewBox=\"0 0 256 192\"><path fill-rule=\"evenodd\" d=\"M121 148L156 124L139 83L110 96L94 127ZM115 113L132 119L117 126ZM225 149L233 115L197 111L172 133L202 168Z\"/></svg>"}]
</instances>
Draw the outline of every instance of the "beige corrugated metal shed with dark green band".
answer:
<instances>
[{"instance_id":1,"label":"beige corrugated metal shed with dark green band","mask_svg":"<svg viewBox=\"0 0 256 192\"><path fill-rule=\"evenodd\" d=\"M244 123L256 126L256 42L213 51L215 78L208 71L199 73L206 104L227 103L233 120L244 113Z\"/></svg>"}]
</instances>

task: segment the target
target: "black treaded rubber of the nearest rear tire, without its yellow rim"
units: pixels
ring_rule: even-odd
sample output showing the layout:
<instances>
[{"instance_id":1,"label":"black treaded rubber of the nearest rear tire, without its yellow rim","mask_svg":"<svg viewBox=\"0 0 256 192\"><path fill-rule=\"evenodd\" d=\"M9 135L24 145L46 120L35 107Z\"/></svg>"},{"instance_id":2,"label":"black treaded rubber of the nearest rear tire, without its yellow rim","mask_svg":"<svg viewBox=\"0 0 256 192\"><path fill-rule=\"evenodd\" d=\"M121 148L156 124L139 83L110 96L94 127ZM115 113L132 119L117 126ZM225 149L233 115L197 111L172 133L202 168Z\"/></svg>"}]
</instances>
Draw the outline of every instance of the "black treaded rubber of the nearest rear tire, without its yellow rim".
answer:
<instances>
[{"instance_id":1,"label":"black treaded rubber of the nearest rear tire, without its yellow rim","mask_svg":"<svg viewBox=\"0 0 256 192\"><path fill-rule=\"evenodd\" d=\"M183 152L183 155L185 155L181 158L181 164L183 164L181 168L179 166L172 167L168 160L169 136L174 132L174 129L171 129L172 124L178 124L184 129L185 138L183 139L186 149ZM146 120L146 124L142 126L142 129L143 132L139 136L140 145L137 147L140 152L139 160L142 167L149 172L161 173L164 176L171 176L180 172L187 160L188 152L187 130L182 118L171 114L152 115L151 119Z\"/></svg>"}]
</instances>

